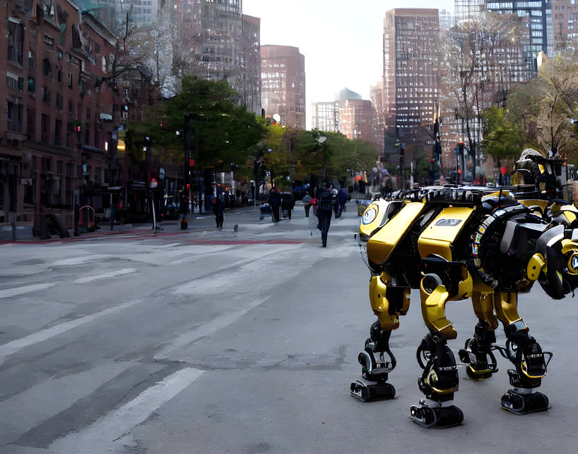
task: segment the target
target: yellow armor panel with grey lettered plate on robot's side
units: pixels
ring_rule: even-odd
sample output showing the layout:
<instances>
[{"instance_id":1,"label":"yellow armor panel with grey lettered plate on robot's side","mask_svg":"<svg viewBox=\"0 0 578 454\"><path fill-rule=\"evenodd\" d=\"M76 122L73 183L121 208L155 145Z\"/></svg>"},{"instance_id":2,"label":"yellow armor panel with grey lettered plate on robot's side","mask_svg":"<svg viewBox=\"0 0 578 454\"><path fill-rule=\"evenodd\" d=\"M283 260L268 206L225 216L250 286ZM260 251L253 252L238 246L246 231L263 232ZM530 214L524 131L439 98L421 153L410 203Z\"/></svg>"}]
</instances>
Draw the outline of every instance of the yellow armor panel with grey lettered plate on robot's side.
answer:
<instances>
[{"instance_id":1,"label":"yellow armor panel with grey lettered plate on robot's side","mask_svg":"<svg viewBox=\"0 0 578 454\"><path fill-rule=\"evenodd\" d=\"M452 261L451 244L460 235L460 232L473 213L468 207L446 208L433 219L417 240L417 249L422 258L430 254L442 256Z\"/></svg>"}]
</instances>

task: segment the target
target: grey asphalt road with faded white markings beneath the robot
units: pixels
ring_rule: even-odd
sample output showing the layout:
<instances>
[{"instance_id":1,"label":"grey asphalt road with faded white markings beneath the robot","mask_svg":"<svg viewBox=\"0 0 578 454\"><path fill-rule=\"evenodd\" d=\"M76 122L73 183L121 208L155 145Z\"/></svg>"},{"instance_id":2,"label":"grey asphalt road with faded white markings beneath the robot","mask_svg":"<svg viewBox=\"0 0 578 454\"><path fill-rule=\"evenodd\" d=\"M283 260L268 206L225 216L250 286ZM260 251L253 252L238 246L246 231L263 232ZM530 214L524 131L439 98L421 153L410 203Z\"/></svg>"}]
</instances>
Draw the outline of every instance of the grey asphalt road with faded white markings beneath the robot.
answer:
<instances>
[{"instance_id":1,"label":"grey asphalt road with faded white markings beneath the robot","mask_svg":"<svg viewBox=\"0 0 578 454\"><path fill-rule=\"evenodd\" d=\"M142 226L0 245L0 454L577 452L578 306L538 286L520 312L554 352L540 388L550 411L500 410L499 358L486 381L460 370L461 426L412 423L416 292L391 338L396 398L350 396L375 319L355 208L332 221L327 248L302 207L277 225L228 212L222 232L206 214L186 233L173 222L157 237ZM469 302L448 313L457 352L476 318Z\"/></svg>"}]
</instances>

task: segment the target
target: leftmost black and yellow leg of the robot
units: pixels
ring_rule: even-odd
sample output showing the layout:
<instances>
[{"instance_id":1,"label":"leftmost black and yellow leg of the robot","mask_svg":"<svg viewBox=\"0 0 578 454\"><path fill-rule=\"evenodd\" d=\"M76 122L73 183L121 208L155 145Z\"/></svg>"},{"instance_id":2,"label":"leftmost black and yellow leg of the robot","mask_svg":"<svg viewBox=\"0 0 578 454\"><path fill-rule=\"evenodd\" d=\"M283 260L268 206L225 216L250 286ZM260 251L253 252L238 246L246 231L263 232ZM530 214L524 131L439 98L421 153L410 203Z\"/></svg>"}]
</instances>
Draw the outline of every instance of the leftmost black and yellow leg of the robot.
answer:
<instances>
[{"instance_id":1,"label":"leftmost black and yellow leg of the robot","mask_svg":"<svg viewBox=\"0 0 578 454\"><path fill-rule=\"evenodd\" d=\"M362 401L395 397L394 386L387 382L395 368L390 336L392 330L399 328L399 315L405 315L409 308L409 289L388 288L382 278L385 276L372 276L369 282L369 298L377 320L358 356L362 378L351 382L351 395Z\"/></svg>"}]
</instances>

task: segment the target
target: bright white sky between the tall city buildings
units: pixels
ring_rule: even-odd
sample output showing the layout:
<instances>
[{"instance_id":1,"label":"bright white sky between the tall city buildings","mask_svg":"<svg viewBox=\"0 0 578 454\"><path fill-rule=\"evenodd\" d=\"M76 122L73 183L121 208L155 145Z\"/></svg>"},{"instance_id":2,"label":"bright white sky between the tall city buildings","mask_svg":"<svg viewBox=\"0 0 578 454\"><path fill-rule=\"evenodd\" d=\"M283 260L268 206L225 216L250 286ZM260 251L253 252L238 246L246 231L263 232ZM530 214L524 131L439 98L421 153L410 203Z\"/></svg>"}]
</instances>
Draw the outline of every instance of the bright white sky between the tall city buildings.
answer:
<instances>
[{"instance_id":1,"label":"bright white sky between the tall city buildings","mask_svg":"<svg viewBox=\"0 0 578 454\"><path fill-rule=\"evenodd\" d=\"M453 11L453 0L402 2L403 8ZM299 47L305 55L307 129L311 103L333 101L343 87L369 99L381 79L383 17L392 0L243 0L243 14L261 18L261 44Z\"/></svg>"}]
</instances>

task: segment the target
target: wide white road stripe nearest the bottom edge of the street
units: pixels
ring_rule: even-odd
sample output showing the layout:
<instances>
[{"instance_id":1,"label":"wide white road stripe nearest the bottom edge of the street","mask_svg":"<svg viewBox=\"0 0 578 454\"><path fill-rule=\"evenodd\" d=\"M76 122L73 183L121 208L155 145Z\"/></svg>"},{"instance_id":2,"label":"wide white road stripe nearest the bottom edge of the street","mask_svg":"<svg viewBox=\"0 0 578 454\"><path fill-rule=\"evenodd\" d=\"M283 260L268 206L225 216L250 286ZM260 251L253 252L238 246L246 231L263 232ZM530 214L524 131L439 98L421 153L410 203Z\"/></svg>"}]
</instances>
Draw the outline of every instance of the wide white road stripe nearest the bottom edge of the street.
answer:
<instances>
[{"instance_id":1,"label":"wide white road stripe nearest the bottom edge of the street","mask_svg":"<svg viewBox=\"0 0 578 454\"><path fill-rule=\"evenodd\" d=\"M102 416L86 429L72 432L54 441L49 446L48 451L60 454L109 452L107 449L110 448L109 444L144 422L151 413L187 388L202 374L202 370L192 367L181 369L144 390L134 400L118 410L110 411ZM108 444L108 446L103 446L103 443Z\"/></svg>"}]
</instances>

